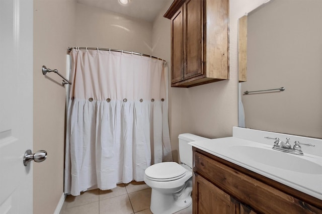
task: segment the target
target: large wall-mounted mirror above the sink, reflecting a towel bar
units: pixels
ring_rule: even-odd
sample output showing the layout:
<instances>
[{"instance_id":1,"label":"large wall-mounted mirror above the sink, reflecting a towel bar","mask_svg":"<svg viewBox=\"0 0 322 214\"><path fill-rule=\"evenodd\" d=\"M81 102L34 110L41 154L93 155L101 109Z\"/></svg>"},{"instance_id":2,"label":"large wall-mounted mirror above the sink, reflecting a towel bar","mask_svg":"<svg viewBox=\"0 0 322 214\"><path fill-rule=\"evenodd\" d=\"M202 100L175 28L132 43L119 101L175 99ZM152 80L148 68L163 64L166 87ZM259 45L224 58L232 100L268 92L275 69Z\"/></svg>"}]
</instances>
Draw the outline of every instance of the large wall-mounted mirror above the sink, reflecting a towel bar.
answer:
<instances>
[{"instance_id":1,"label":"large wall-mounted mirror above the sink, reflecting a towel bar","mask_svg":"<svg viewBox=\"0 0 322 214\"><path fill-rule=\"evenodd\" d=\"M240 18L245 127L322 138L321 11L320 0L272 0Z\"/></svg>"}]
</instances>

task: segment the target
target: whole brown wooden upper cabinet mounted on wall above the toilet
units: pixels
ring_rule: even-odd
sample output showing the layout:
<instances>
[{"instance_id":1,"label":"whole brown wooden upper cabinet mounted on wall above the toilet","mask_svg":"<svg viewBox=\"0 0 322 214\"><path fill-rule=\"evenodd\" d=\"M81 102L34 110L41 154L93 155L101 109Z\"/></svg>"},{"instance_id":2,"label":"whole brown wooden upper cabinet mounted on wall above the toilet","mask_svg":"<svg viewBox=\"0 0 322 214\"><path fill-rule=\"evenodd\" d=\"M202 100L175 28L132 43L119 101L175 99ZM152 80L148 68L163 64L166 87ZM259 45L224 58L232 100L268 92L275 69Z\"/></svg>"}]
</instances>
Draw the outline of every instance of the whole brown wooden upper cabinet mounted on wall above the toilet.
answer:
<instances>
[{"instance_id":1,"label":"whole brown wooden upper cabinet mounted on wall above the toilet","mask_svg":"<svg viewBox=\"0 0 322 214\"><path fill-rule=\"evenodd\" d=\"M173 87L229 79L228 0L175 0L171 19Z\"/></svg>"}]
</instances>

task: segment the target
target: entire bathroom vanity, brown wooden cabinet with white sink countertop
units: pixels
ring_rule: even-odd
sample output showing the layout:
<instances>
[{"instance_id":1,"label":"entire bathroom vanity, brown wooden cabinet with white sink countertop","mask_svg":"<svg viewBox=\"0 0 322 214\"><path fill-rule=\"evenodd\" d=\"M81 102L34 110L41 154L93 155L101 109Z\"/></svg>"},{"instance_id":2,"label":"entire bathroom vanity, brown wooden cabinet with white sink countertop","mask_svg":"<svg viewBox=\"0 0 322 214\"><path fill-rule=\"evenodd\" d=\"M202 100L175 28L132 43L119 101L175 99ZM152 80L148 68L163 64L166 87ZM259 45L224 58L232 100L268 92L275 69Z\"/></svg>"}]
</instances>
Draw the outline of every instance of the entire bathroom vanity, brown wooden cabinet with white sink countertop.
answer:
<instances>
[{"instance_id":1,"label":"entire bathroom vanity, brown wooden cabinet with white sink countertop","mask_svg":"<svg viewBox=\"0 0 322 214\"><path fill-rule=\"evenodd\" d=\"M294 157L271 152L273 142L263 137L276 135L282 139L284 134L236 127L233 133L234 137L191 142L193 213L322 213L322 157L315 154L321 149L321 140L314 141L314 149L303 146L304 155ZM245 139L249 136L256 142ZM278 162L280 165L274 165Z\"/></svg>"}]
</instances>

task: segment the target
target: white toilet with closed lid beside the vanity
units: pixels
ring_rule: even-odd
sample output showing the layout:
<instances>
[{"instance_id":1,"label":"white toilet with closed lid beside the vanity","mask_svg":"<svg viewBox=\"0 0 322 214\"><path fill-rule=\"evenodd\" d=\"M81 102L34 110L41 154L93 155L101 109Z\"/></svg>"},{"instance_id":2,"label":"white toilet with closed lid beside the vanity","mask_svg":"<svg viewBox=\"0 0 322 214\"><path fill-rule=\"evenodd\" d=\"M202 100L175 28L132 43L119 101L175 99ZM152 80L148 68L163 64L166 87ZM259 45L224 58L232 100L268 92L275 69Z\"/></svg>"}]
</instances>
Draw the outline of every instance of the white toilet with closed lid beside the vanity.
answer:
<instances>
[{"instance_id":1,"label":"white toilet with closed lid beside the vanity","mask_svg":"<svg viewBox=\"0 0 322 214\"><path fill-rule=\"evenodd\" d=\"M193 134L179 135L181 164L163 162L145 169L144 181L151 187L150 209L154 214L170 214L192 203L192 146L189 142L207 140Z\"/></svg>"}]
</instances>

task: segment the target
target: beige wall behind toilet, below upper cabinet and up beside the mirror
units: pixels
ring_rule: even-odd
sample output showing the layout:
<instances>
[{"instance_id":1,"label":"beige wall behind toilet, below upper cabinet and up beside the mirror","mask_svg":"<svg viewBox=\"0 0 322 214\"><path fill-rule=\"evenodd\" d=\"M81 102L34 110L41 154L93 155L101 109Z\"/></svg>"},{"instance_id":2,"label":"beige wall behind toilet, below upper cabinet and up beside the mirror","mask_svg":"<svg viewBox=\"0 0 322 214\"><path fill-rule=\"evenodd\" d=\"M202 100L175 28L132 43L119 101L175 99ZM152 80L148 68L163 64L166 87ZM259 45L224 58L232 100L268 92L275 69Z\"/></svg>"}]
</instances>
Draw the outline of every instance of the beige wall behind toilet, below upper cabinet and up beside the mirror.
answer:
<instances>
[{"instance_id":1,"label":"beige wall behind toilet, below upper cabinet and up beside the mirror","mask_svg":"<svg viewBox=\"0 0 322 214\"><path fill-rule=\"evenodd\" d=\"M232 135L232 126L237 126L238 18L253 10L263 1L229 1L229 80L191 88L172 90L171 117L179 122L171 128L172 133L193 133L208 138ZM171 119L173 122L173 118ZM172 140L174 140L174 136ZM176 141L178 141L176 139ZM174 143L173 143L174 144Z\"/></svg>"}]
</instances>

